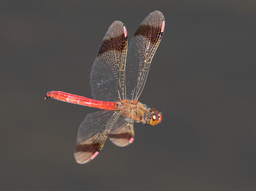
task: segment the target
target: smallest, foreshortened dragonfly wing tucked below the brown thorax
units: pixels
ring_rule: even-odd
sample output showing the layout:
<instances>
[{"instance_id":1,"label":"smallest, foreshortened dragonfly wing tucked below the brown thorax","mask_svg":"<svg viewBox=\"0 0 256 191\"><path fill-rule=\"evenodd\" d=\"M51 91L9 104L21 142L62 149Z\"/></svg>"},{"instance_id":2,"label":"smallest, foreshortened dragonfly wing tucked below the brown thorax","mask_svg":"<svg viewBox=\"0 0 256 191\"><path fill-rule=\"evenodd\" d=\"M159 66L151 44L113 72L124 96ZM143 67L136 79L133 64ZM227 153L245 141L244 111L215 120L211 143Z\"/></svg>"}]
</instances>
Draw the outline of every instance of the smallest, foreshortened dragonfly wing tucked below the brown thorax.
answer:
<instances>
[{"instance_id":1,"label":"smallest, foreshortened dragonfly wing tucked below the brown thorax","mask_svg":"<svg viewBox=\"0 0 256 191\"><path fill-rule=\"evenodd\" d=\"M119 117L108 134L109 140L119 147L125 147L134 140L134 120Z\"/></svg>"}]
</instances>

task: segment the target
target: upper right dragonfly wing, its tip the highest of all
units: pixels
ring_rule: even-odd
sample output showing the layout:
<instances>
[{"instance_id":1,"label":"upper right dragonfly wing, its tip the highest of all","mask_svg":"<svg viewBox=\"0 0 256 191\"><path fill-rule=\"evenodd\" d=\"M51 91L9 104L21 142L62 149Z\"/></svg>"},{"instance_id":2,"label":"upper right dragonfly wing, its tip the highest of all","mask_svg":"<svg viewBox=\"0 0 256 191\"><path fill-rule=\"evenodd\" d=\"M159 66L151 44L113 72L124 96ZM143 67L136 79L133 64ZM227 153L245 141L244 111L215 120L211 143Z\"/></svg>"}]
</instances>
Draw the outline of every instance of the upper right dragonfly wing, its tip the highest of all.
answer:
<instances>
[{"instance_id":1,"label":"upper right dragonfly wing, its tip the highest of all","mask_svg":"<svg viewBox=\"0 0 256 191\"><path fill-rule=\"evenodd\" d=\"M126 99L138 100L164 28L165 18L163 14L160 11L154 11L140 23L134 33L127 50Z\"/></svg>"}]
</instances>

